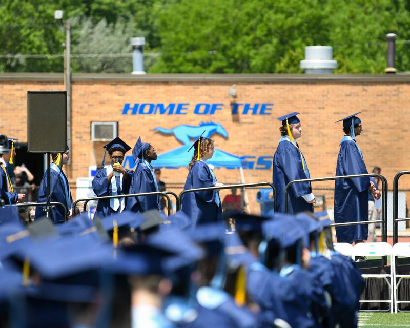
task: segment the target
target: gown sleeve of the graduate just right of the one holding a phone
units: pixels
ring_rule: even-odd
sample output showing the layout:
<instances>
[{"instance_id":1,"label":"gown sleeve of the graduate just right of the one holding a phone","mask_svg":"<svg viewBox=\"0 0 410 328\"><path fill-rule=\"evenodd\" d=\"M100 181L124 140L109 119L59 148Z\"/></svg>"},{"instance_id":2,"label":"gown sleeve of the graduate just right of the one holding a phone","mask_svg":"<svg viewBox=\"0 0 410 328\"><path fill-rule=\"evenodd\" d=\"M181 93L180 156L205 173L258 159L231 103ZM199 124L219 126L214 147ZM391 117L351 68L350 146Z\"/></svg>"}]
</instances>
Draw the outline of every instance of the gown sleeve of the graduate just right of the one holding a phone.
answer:
<instances>
[{"instance_id":1,"label":"gown sleeve of the graduate just right of the one holding a phone","mask_svg":"<svg viewBox=\"0 0 410 328\"><path fill-rule=\"evenodd\" d=\"M155 182L150 169L145 168L137 172L137 176L134 179L134 192L138 194L156 192ZM158 209L158 196L138 196L138 203L142 212Z\"/></svg>"}]
</instances>

